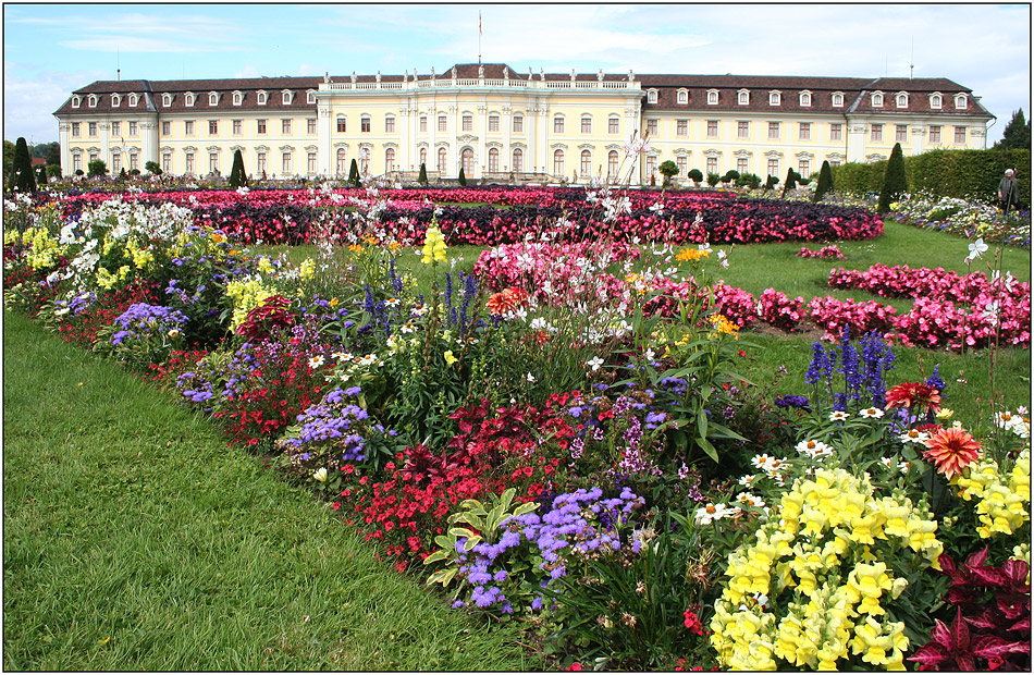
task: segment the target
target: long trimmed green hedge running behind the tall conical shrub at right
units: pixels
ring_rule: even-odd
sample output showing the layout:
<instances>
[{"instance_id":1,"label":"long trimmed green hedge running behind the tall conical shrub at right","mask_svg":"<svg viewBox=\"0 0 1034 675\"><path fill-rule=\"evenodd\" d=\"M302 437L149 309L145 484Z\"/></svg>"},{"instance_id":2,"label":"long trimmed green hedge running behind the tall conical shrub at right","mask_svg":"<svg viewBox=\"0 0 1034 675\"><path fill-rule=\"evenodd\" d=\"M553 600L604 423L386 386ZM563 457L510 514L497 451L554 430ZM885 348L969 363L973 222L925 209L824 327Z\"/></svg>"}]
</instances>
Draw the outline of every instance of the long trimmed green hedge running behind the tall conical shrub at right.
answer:
<instances>
[{"instance_id":1,"label":"long trimmed green hedge running behind the tall conical shrub at right","mask_svg":"<svg viewBox=\"0 0 1034 675\"><path fill-rule=\"evenodd\" d=\"M1020 201L1031 202L1030 150L931 150L904 158L904 175L913 192L935 197L957 197L993 202L998 181L1006 169L1020 173ZM887 160L863 164L851 162L833 167L837 192L862 195L878 193L887 171Z\"/></svg>"}]
</instances>

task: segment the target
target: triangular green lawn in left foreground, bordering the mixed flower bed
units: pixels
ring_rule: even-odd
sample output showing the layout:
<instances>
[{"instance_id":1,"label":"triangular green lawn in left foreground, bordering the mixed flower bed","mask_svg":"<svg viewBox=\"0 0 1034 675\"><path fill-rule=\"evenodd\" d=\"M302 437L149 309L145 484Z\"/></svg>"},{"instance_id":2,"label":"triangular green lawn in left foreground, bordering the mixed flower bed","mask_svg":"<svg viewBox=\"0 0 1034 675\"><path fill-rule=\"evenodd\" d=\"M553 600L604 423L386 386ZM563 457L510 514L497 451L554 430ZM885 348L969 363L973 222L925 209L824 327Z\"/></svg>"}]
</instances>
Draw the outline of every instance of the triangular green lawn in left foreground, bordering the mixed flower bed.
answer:
<instances>
[{"instance_id":1,"label":"triangular green lawn in left foreground, bordering the mixed flower bed","mask_svg":"<svg viewBox=\"0 0 1034 675\"><path fill-rule=\"evenodd\" d=\"M170 394L3 329L4 670L541 667Z\"/></svg>"}]
</instances>

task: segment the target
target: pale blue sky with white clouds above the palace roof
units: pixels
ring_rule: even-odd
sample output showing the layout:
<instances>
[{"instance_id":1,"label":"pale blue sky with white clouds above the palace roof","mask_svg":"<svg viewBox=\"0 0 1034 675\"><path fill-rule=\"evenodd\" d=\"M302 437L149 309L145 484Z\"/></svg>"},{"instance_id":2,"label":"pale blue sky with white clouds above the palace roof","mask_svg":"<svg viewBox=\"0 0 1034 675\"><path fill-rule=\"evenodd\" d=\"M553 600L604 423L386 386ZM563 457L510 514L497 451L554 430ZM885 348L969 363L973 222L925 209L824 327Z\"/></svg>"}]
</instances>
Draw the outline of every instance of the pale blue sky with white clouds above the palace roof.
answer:
<instances>
[{"instance_id":1,"label":"pale blue sky with white clouds above the palace roof","mask_svg":"<svg viewBox=\"0 0 1034 675\"><path fill-rule=\"evenodd\" d=\"M948 77L1031 118L1031 8L993 4L4 4L3 137L57 140L95 79L443 72Z\"/></svg>"}]
</instances>

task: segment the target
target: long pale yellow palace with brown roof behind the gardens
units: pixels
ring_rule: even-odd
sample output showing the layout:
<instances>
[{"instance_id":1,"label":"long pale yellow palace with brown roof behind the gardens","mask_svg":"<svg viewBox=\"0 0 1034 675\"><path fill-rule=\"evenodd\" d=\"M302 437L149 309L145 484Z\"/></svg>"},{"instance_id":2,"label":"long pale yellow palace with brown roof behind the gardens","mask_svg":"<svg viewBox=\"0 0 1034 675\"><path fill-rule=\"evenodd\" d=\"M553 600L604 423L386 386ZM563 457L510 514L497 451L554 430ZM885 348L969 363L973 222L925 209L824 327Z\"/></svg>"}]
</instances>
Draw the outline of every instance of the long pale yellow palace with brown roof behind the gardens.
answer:
<instances>
[{"instance_id":1,"label":"long pale yellow palace with brown roof behind the gardens","mask_svg":"<svg viewBox=\"0 0 1034 675\"><path fill-rule=\"evenodd\" d=\"M444 73L246 79L101 81L54 116L61 165L112 173L153 161L173 175L229 174L241 150L254 177L360 172L431 180L460 168L484 182L587 183L627 170L624 145L648 134L633 183L674 161L783 177L931 149L984 149L987 112L946 78L519 74L502 63ZM625 176L619 176L624 179Z\"/></svg>"}]
</instances>

